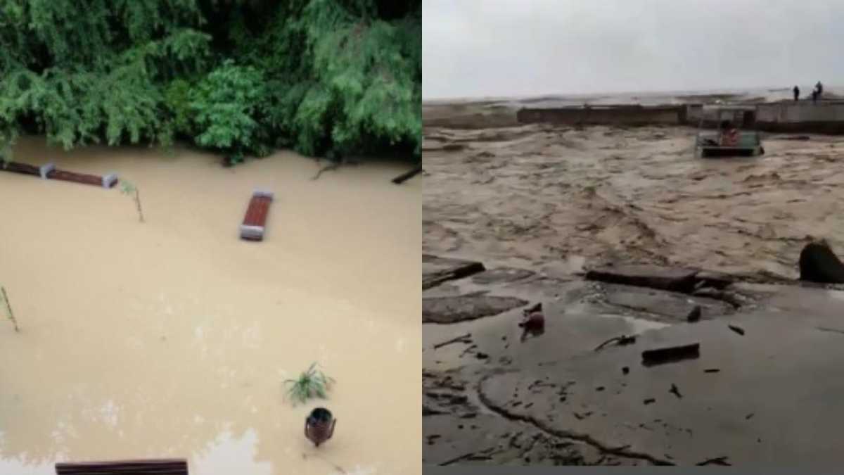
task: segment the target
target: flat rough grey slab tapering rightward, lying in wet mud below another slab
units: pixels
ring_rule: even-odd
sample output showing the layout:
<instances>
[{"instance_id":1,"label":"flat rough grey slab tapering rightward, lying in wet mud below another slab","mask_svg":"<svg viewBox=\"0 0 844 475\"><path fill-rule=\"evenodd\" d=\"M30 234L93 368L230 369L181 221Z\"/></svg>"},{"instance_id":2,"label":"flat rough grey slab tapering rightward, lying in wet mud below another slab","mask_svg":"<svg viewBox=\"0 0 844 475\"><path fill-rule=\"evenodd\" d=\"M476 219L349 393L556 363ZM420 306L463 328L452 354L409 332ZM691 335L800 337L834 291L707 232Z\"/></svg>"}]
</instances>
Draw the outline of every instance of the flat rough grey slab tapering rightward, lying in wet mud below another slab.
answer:
<instances>
[{"instance_id":1,"label":"flat rough grey slab tapering rightward, lying in wet mud below another slab","mask_svg":"<svg viewBox=\"0 0 844 475\"><path fill-rule=\"evenodd\" d=\"M527 300L489 295L461 295L422 299L422 323L449 324L503 314L524 307Z\"/></svg>"}]
</instances>

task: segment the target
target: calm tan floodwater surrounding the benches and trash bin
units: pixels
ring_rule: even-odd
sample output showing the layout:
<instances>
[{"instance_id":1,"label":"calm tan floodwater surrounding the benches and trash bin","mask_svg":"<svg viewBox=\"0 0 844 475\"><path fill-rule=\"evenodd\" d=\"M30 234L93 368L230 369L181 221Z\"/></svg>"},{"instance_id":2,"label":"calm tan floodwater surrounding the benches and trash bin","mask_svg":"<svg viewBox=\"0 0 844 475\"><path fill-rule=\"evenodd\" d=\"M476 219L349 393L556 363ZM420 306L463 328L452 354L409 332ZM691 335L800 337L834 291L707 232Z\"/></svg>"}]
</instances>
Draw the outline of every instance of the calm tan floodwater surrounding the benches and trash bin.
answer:
<instances>
[{"instance_id":1,"label":"calm tan floodwater surrounding the benches and trash bin","mask_svg":"<svg viewBox=\"0 0 844 475\"><path fill-rule=\"evenodd\" d=\"M319 166L289 152L223 168L189 150L15 161L117 172L116 189L0 173L0 473L56 461L187 457L192 474L419 474L421 180L406 166ZM254 188L265 240L238 238ZM283 381L319 362L327 401ZM386 403L385 401L389 401ZM315 450L306 415L329 408Z\"/></svg>"}]
</instances>

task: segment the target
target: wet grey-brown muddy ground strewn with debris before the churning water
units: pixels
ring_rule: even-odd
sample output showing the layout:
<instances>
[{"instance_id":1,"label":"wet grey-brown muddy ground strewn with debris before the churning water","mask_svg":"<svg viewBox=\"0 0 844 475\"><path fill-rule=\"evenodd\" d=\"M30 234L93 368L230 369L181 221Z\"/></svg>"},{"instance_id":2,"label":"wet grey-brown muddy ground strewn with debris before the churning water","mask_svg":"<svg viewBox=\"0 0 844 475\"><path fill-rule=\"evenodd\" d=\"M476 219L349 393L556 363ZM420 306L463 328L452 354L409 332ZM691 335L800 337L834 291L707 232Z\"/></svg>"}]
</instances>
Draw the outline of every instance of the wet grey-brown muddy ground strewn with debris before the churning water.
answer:
<instances>
[{"instance_id":1,"label":"wet grey-brown muddy ground strewn with debris before the churning water","mask_svg":"<svg viewBox=\"0 0 844 475\"><path fill-rule=\"evenodd\" d=\"M424 301L483 292L526 302L423 325L425 463L836 461L844 292L706 271L618 273L633 285L494 269L425 291ZM667 275L740 304L644 286ZM544 332L523 338L522 309L538 302ZM689 322L695 306L701 319ZM699 347L690 358L643 363L642 352L690 344Z\"/></svg>"}]
</instances>

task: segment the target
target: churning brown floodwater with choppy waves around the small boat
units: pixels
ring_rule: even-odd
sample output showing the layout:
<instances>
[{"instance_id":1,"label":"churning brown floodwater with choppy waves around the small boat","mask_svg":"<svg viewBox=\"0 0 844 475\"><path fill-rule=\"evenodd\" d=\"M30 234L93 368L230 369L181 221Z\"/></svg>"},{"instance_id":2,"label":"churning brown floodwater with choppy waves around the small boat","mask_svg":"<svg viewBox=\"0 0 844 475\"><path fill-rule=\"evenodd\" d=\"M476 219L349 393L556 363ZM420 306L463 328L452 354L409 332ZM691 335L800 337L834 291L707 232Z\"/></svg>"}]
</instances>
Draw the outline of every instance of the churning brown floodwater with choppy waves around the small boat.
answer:
<instances>
[{"instance_id":1,"label":"churning brown floodwater with choppy waves around the small boat","mask_svg":"<svg viewBox=\"0 0 844 475\"><path fill-rule=\"evenodd\" d=\"M771 135L765 156L701 160L694 128L483 127L425 131L426 253L794 278L807 236L844 250L836 137Z\"/></svg>"}]
</instances>

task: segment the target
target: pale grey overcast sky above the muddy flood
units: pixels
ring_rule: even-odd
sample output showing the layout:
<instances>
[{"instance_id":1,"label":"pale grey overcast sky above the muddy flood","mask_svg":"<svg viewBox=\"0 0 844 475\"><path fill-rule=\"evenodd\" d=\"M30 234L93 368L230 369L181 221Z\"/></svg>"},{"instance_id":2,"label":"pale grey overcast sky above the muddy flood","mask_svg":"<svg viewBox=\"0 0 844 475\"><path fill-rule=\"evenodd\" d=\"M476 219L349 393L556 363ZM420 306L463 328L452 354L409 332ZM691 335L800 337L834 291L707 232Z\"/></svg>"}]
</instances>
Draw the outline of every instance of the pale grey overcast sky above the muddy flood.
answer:
<instances>
[{"instance_id":1,"label":"pale grey overcast sky above the muddy flood","mask_svg":"<svg viewBox=\"0 0 844 475\"><path fill-rule=\"evenodd\" d=\"M842 0L423 0L425 99L844 85Z\"/></svg>"}]
</instances>

